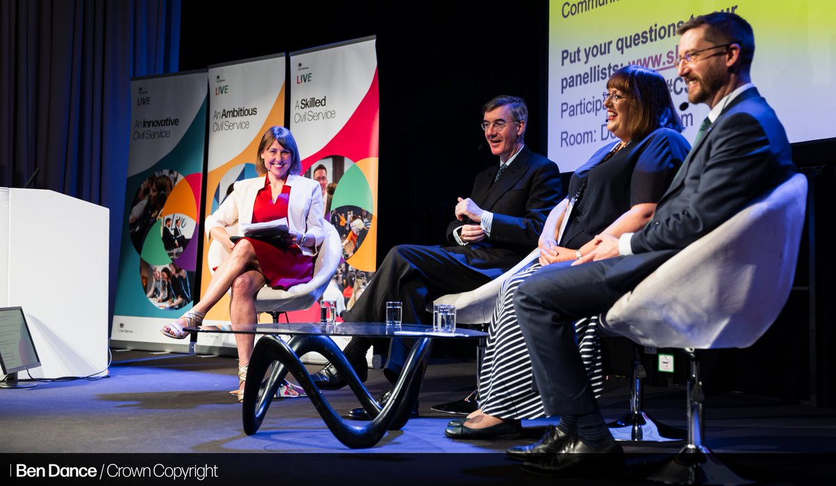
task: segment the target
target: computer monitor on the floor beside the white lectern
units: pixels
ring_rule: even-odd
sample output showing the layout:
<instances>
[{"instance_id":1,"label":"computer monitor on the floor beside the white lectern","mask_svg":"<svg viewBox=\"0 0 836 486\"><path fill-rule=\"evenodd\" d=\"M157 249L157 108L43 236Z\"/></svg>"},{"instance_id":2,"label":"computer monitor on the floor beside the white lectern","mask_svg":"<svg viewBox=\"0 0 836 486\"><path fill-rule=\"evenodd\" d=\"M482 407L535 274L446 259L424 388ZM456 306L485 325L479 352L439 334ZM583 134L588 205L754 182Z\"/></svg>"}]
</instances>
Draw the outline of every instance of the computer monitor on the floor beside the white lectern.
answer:
<instances>
[{"instance_id":1,"label":"computer monitor on the floor beside the white lectern","mask_svg":"<svg viewBox=\"0 0 836 486\"><path fill-rule=\"evenodd\" d=\"M41 366L22 307L0 307L0 367L7 374L0 388L28 388L18 382L18 372Z\"/></svg>"}]
</instances>

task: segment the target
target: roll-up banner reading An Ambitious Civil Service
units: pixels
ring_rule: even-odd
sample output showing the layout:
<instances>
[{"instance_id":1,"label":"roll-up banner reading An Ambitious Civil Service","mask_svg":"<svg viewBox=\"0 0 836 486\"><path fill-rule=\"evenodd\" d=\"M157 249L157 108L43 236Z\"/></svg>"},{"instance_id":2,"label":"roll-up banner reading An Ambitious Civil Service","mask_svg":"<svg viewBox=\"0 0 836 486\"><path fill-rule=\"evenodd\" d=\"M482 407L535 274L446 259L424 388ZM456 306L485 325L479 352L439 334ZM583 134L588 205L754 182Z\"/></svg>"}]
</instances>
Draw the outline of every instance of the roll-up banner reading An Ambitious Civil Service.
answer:
<instances>
[{"instance_id":1,"label":"roll-up banner reading An Ambitious Civil Service","mask_svg":"<svg viewBox=\"0 0 836 486\"><path fill-rule=\"evenodd\" d=\"M209 67L209 149L206 163L206 215L212 214L237 180L257 177L256 152L261 137L273 125L284 125L285 56L278 54ZM234 229L229 229L230 233ZM201 224L201 238L203 225ZM210 245L203 248L201 295L217 266ZM269 316L263 315L261 320ZM206 313L206 323L229 322L229 296ZM201 334L199 347L235 347L231 336Z\"/></svg>"}]
</instances>

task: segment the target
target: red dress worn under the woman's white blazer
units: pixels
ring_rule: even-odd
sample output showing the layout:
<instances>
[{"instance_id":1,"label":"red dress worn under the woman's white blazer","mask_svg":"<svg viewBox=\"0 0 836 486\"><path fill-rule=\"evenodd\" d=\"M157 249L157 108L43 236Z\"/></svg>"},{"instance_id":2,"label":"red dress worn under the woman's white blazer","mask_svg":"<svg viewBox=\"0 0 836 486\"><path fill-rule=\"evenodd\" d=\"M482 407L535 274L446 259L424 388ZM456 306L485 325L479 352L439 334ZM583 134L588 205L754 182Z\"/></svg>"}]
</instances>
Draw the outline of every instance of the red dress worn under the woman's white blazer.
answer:
<instances>
[{"instance_id":1,"label":"red dress worn under the woman's white blazer","mask_svg":"<svg viewBox=\"0 0 836 486\"><path fill-rule=\"evenodd\" d=\"M252 222L278 220L288 217L289 185L284 185L282 194L273 203L269 180L264 178L264 187L258 190L255 205L252 206ZM267 241L246 238L256 251L258 264L267 278L267 285L282 290L311 281L314 278L314 257L303 255L298 245L283 248Z\"/></svg>"}]
</instances>

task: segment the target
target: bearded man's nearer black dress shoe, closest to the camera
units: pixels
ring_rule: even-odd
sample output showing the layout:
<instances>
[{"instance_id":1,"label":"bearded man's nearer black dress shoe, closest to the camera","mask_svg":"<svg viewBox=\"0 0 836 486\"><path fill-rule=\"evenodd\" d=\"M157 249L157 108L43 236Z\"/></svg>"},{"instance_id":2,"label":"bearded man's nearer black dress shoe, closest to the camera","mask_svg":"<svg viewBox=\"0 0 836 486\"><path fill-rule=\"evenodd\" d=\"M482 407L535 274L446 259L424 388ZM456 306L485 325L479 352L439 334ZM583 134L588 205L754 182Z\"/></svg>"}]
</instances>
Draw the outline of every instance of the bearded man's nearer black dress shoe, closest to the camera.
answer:
<instances>
[{"instance_id":1,"label":"bearded man's nearer black dress shoe, closest to the camera","mask_svg":"<svg viewBox=\"0 0 836 486\"><path fill-rule=\"evenodd\" d=\"M595 475L618 473L624 467L624 450L619 443L610 440L593 448L578 436L563 442L563 447L544 458L523 463L523 471L534 474L592 473Z\"/></svg>"}]
</instances>

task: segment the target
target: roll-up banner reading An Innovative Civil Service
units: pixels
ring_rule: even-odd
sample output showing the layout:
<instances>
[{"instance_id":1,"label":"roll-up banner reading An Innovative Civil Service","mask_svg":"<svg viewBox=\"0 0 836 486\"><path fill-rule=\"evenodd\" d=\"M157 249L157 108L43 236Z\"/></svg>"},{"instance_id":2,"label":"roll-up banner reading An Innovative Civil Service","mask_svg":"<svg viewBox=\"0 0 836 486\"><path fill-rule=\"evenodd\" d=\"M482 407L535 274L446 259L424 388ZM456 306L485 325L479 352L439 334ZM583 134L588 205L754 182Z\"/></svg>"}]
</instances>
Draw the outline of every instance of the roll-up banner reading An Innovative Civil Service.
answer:
<instances>
[{"instance_id":1,"label":"roll-up banner reading An Innovative Civil Service","mask_svg":"<svg viewBox=\"0 0 836 486\"><path fill-rule=\"evenodd\" d=\"M130 151L111 342L181 350L160 328L191 308L206 144L206 71L130 82Z\"/></svg>"}]
</instances>

